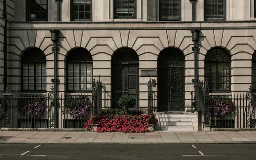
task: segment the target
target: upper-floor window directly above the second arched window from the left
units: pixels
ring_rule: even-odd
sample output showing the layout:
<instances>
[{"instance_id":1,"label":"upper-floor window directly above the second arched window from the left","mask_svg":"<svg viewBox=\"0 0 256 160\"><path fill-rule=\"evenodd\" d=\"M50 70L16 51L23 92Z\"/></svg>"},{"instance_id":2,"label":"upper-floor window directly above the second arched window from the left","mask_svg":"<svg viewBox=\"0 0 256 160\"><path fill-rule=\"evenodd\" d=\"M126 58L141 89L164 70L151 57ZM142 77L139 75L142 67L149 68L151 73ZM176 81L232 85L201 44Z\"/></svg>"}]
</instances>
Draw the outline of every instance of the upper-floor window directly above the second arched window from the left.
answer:
<instances>
[{"instance_id":1,"label":"upper-floor window directly above the second arched window from the left","mask_svg":"<svg viewBox=\"0 0 256 160\"><path fill-rule=\"evenodd\" d=\"M90 21L92 0L71 0L71 20Z\"/></svg>"}]
</instances>

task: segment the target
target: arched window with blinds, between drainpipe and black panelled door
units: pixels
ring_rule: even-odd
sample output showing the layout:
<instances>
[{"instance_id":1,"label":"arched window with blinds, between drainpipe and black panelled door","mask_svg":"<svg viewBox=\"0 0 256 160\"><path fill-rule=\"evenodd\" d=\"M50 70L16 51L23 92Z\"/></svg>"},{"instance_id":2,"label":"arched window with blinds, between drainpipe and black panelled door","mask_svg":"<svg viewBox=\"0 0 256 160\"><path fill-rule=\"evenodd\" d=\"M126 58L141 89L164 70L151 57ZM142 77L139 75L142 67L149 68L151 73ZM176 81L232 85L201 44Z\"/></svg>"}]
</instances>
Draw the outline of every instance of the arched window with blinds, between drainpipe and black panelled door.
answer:
<instances>
[{"instance_id":1,"label":"arched window with blinds, between drainpipe and black panelled door","mask_svg":"<svg viewBox=\"0 0 256 160\"><path fill-rule=\"evenodd\" d=\"M67 91L87 92L93 88L93 58L83 48L73 49L67 55Z\"/></svg>"}]
</instances>

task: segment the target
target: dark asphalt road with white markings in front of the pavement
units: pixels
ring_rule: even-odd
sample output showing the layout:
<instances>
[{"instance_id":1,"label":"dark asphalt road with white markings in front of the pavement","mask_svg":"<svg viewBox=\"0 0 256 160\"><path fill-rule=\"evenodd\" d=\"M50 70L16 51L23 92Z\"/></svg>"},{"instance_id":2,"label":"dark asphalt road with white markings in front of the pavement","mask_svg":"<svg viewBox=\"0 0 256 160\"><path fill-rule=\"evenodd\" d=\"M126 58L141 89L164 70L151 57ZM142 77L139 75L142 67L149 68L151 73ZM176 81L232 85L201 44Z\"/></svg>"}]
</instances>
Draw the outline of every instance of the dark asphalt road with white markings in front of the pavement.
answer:
<instances>
[{"instance_id":1,"label":"dark asphalt road with white markings in front of the pavement","mask_svg":"<svg viewBox=\"0 0 256 160\"><path fill-rule=\"evenodd\" d=\"M0 144L0 160L256 160L256 144Z\"/></svg>"}]
</instances>

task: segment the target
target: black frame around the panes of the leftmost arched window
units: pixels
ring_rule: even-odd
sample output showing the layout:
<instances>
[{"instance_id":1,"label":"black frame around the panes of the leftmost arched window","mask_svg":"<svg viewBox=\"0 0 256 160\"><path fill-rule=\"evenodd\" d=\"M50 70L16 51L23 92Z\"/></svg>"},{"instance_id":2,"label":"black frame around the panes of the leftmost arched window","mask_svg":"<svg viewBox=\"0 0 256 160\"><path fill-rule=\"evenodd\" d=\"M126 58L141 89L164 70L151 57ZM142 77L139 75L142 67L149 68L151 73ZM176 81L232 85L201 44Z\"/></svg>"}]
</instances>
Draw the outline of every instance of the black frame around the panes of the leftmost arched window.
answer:
<instances>
[{"instance_id":1,"label":"black frame around the panes of the leftmost arched window","mask_svg":"<svg viewBox=\"0 0 256 160\"><path fill-rule=\"evenodd\" d=\"M33 49L33 48L32 48ZM38 48L37 48L38 49ZM26 51L26 52L32 52L32 51ZM24 53L24 54L29 54L29 53ZM39 52L39 50L38 51L35 51L35 52ZM44 52L43 51L41 51L43 54L44 54ZM23 55L24 55L23 54ZM37 78L37 76L36 76L36 64L45 64L45 66L46 66L46 63L47 61L46 61L46 57L45 57L45 61L24 61L23 59L22 59L22 61L21 61L21 91L22 92L32 92L32 93L46 93L47 92L47 89L46 90L37 90L36 89L36 78ZM24 90L23 89L23 64L34 64L34 89L33 90L30 90L30 89L28 89L28 90ZM41 71L42 71L42 68L41 68ZM47 72L47 66L46 66L46 72ZM41 74L42 75L42 74ZM29 76L28 76L29 77ZM42 77L42 76L41 76ZM45 75L45 77L47 78L47 73L46 73L46 75ZM28 83L29 84L29 83ZM41 82L41 86L42 86L42 82ZM46 81L46 87L47 87L47 81Z\"/></svg>"}]
</instances>

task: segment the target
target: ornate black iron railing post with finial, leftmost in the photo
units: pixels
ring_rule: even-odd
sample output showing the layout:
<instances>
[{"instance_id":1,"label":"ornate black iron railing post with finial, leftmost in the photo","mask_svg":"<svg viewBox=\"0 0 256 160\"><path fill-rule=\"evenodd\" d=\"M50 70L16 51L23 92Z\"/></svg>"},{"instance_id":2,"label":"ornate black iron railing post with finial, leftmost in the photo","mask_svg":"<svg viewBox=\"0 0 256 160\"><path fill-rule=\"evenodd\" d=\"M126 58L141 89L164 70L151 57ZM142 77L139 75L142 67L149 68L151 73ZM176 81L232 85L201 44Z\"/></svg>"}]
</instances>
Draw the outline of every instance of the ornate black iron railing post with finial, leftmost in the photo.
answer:
<instances>
[{"instance_id":1,"label":"ornate black iron railing post with finial, leftmost in the photo","mask_svg":"<svg viewBox=\"0 0 256 160\"><path fill-rule=\"evenodd\" d=\"M4 96L4 127L12 127L12 119L10 118L12 114L10 108L12 108L12 92L9 87L3 94Z\"/></svg>"}]
</instances>

